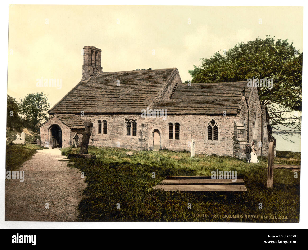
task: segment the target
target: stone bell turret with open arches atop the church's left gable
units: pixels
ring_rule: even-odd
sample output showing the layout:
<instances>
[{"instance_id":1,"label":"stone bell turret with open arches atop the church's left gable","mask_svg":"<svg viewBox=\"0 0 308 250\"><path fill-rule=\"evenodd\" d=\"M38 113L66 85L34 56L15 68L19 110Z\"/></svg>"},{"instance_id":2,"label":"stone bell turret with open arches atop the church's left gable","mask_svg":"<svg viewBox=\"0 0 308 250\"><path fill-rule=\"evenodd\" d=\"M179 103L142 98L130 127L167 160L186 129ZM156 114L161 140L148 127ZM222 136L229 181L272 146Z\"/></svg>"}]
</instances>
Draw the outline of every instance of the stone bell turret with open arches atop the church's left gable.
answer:
<instances>
[{"instance_id":1,"label":"stone bell turret with open arches atop the church's left gable","mask_svg":"<svg viewBox=\"0 0 308 250\"><path fill-rule=\"evenodd\" d=\"M82 80L87 80L97 72L102 72L102 50L94 46L83 47Z\"/></svg>"}]
</instances>

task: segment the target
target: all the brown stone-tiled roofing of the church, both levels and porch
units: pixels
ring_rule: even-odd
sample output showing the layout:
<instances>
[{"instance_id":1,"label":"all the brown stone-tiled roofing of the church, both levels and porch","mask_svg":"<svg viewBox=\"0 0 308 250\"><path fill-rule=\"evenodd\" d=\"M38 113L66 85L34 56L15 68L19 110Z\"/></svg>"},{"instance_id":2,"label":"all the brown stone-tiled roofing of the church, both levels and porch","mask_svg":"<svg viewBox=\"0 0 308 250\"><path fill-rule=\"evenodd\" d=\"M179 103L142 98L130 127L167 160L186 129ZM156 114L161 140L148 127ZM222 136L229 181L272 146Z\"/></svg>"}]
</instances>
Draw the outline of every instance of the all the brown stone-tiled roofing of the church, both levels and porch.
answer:
<instances>
[{"instance_id":1,"label":"all the brown stone-tiled roofing of the church, both levels and porch","mask_svg":"<svg viewBox=\"0 0 308 250\"><path fill-rule=\"evenodd\" d=\"M141 113L175 71L176 68L98 73L79 82L49 113L57 113L63 123L71 126L75 125L75 117L60 118L61 113ZM167 109L169 114L237 114L243 93L248 99L250 91L247 81L178 84L171 99L157 99L150 108Z\"/></svg>"}]
</instances>

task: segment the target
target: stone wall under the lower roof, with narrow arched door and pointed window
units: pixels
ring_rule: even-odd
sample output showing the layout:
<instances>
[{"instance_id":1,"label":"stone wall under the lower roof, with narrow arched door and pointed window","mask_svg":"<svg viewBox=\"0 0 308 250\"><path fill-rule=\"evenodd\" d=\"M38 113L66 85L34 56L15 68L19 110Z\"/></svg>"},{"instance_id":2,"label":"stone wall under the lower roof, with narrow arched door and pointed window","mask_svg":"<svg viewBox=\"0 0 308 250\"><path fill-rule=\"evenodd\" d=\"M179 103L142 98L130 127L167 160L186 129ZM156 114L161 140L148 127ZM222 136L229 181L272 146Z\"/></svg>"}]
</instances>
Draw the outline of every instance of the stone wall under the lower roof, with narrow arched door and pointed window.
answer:
<instances>
[{"instance_id":1,"label":"stone wall under the lower roof, with narrow arched door and pointed window","mask_svg":"<svg viewBox=\"0 0 308 250\"><path fill-rule=\"evenodd\" d=\"M208 140L207 126L214 119L218 125L218 141ZM148 118L148 149L153 149L153 131L160 131L160 148L173 151L190 151L192 139L195 153L233 156L233 120L235 116L215 115L168 115L162 118ZM173 124L173 139L169 139L169 122ZM179 140L175 139L175 123L180 124Z\"/></svg>"}]
</instances>

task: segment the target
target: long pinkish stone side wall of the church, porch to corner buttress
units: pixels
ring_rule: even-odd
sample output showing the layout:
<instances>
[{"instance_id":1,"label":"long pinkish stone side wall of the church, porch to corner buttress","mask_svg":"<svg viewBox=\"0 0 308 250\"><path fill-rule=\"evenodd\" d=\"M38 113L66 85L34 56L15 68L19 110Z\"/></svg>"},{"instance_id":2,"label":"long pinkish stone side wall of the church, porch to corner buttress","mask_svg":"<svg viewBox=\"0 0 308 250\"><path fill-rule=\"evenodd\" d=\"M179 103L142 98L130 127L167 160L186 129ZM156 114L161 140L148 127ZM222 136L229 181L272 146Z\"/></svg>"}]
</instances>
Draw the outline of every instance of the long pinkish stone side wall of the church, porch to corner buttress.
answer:
<instances>
[{"instance_id":1,"label":"long pinkish stone side wall of the church, porch to corner buttress","mask_svg":"<svg viewBox=\"0 0 308 250\"><path fill-rule=\"evenodd\" d=\"M190 151L190 143L195 140L195 152L208 155L233 156L233 120L236 116L206 115L168 115L162 117L141 117L137 115L86 115L85 119L93 122L89 145L121 147L135 150L153 149L153 132L160 132L160 149ZM137 121L137 136L126 134L125 121ZM215 119L218 125L218 141L209 141L207 125ZM98 120L102 121L102 133L98 133ZM103 120L107 121L107 134L103 134ZM173 139L169 139L169 122L173 124ZM175 139L175 123L180 124L179 140ZM74 133L75 135L75 133Z\"/></svg>"}]
</instances>

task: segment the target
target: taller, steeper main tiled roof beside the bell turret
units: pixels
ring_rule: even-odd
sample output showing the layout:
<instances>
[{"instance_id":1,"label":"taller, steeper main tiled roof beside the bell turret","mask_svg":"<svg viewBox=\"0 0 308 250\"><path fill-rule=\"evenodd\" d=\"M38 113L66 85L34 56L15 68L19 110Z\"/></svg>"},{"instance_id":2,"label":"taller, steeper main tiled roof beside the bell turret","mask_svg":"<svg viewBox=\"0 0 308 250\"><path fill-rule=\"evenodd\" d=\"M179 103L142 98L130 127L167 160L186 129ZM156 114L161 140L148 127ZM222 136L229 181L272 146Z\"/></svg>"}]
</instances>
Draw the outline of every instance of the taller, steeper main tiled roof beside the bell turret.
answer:
<instances>
[{"instance_id":1,"label":"taller, steeper main tiled roof beside the bell turret","mask_svg":"<svg viewBox=\"0 0 308 250\"><path fill-rule=\"evenodd\" d=\"M176 68L99 73L86 82L79 82L49 112L141 113L175 70Z\"/></svg>"}]
</instances>

